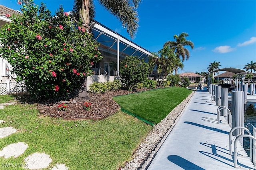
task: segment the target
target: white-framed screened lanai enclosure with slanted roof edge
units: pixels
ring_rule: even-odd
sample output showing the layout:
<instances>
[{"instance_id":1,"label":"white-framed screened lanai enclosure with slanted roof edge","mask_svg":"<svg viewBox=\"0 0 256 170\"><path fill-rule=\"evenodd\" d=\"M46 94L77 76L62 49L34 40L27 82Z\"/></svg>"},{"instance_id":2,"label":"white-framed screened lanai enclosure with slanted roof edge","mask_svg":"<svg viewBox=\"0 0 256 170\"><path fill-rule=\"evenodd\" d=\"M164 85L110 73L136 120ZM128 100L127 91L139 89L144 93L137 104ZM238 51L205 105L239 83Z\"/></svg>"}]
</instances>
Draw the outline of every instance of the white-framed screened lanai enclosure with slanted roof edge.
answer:
<instances>
[{"instance_id":1,"label":"white-framed screened lanai enclosure with slanted roof edge","mask_svg":"<svg viewBox=\"0 0 256 170\"><path fill-rule=\"evenodd\" d=\"M151 55L143 47L109 29L95 21L92 27L92 33L98 43L100 43L99 50L103 56L102 61L93 65L92 70L94 74L119 76L120 62L126 56L136 56L139 59L144 59L148 62L148 56ZM114 67L112 64L116 64Z\"/></svg>"}]
</instances>

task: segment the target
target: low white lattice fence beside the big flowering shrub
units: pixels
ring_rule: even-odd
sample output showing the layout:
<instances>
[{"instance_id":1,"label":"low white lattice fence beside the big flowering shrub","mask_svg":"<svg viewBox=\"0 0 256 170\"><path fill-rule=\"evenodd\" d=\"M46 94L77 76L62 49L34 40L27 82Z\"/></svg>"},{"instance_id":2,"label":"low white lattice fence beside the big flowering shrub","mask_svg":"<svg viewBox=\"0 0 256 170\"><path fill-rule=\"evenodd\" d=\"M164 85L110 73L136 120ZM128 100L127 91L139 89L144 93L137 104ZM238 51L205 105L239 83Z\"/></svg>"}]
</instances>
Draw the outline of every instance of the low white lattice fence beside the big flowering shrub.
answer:
<instances>
[{"instance_id":1,"label":"low white lattice fence beside the big flowering shrub","mask_svg":"<svg viewBox=\"0 0 256 170\"><path fill-rule=\"evenodd\" d=\"M26 92L26 87L24 86L24 84L10 81L0 83L0 95L19 92Z\"/></svg>"}]
</instances>

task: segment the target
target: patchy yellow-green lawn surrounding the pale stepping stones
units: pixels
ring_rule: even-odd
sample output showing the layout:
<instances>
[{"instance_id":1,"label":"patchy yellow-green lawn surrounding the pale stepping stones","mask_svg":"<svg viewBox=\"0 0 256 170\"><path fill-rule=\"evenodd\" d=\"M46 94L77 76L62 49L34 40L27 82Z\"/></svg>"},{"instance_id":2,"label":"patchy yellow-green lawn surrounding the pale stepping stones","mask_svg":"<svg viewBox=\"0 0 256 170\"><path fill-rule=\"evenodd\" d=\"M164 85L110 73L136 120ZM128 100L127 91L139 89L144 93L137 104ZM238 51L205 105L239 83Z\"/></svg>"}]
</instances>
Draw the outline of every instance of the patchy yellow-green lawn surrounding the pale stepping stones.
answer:
<instances>
[{"instance_id":1,"label":"patchy yellow-green lawn surrounding the pale stepping stones","mask_svg":"<svg viewBox=\"0 0 256 170\"><path fill-rule=\"evenodd\" d=\"M0 96L1 102L14 96ZM67 121L39 115L36 104L15 104L0 109L0 127L17 132L0 139L0 150L11 143L24 142L28 149L18 158L0 157L2 164L24 164L35 152L49 154L50 168L65 164L70 170L116 170L131 159L134 150L152 129L121 111L100 121ZM20 170L23 168L12 168Z\"/></svg>"}]
</instances>

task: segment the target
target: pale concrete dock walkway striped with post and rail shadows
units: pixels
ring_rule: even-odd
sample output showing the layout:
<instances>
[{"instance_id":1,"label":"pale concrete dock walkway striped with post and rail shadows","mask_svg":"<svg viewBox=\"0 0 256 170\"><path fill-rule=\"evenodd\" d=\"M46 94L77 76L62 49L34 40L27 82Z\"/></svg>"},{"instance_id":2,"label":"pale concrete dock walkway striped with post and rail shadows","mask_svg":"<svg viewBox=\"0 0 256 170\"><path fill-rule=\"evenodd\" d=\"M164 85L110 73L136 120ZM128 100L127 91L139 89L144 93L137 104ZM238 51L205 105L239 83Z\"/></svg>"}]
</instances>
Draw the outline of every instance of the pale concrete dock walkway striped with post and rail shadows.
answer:
<instances>
[{"instance_id":1,"label":"pale concrete dock walkway striped with post and rail shadows","mask_svg":"<svg viewBox=\"0 0 256 170\"><path fill-rule=\"evenodd\" d=\"M230 126L220 117L218 106L210 102L208 92L197 91L174 126L148 170L229 170L234 168L229 154ZM254 169L238 143L238 166Z\"/></svg>"}]
</instances>

